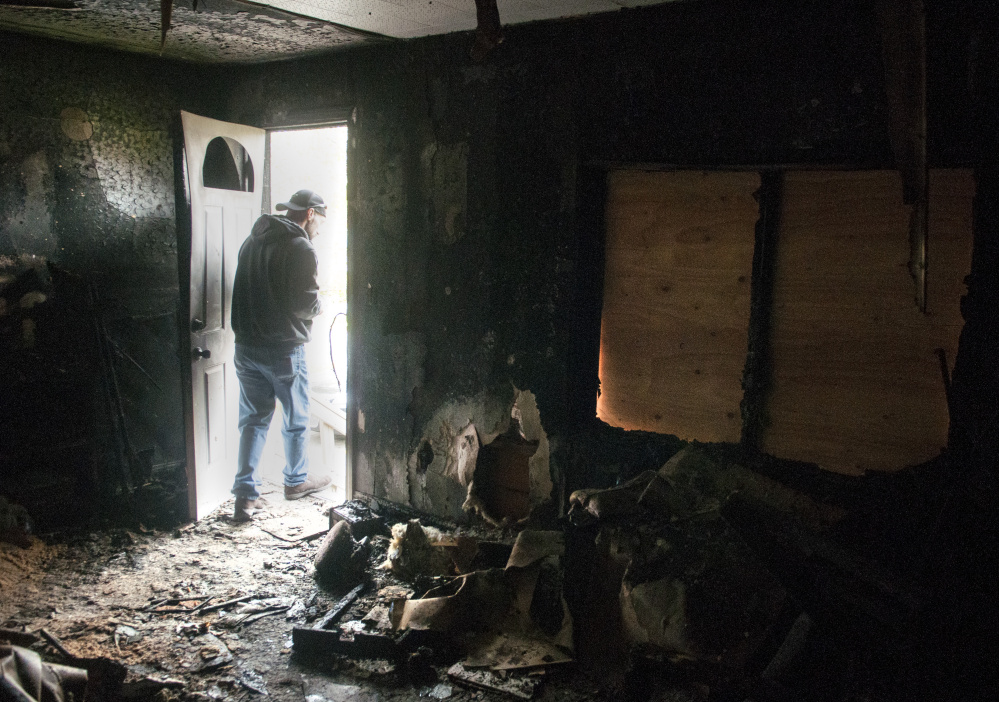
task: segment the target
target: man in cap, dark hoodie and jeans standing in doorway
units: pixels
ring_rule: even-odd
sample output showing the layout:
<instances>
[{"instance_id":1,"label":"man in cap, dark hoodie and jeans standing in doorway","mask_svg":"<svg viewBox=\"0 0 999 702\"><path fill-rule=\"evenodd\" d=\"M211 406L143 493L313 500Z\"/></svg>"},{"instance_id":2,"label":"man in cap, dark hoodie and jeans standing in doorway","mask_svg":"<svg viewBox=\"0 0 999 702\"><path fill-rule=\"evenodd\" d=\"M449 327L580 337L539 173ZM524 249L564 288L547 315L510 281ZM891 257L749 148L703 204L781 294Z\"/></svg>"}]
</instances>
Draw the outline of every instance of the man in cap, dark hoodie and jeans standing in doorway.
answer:
<instances>
[{"instance_id":1,"label":"man in cap, dark hoodie and jeans standing in doorway","mask_svg":"<svg viewBox=\"0 0 999 702\"><path fill-rule=\"evenodd\" d=\"M288 213L262 215L240 248L232 291L239 378L239 465L232 493L238 522L252 519L264 507L258 464L275 398L284 412L285 499L297 500L330 483L308 474L305 366L312 319L322 309L312 239L326 220L326 204L311 190L299 190L277 209Z\"/></svg>"}]
</instances>

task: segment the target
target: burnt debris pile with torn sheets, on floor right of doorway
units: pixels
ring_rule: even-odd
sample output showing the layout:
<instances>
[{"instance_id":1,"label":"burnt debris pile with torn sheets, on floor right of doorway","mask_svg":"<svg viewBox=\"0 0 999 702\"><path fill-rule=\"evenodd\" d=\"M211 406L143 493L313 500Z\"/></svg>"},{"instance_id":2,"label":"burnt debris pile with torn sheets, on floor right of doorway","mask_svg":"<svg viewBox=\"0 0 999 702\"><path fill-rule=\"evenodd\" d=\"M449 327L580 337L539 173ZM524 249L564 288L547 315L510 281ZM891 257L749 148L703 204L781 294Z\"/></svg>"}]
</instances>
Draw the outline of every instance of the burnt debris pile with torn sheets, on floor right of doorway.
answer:
<instances>
[{"instance_id":1,"label":"burnt debris pile with torn sheets, on floor right of doorway","mask_svg":"<svg viewBox=\"0 0 999 702\"><path fill-rule=\"evenodd\" d=\"M561 532L522 531L509 545L419 519L375 528L370 515L346 509L347 518L334 510L339 521L315 565L317 578L353 589L316 624L294 629L297 660L380 660L381 672L428 685L446 670L454 684L518 697L573 660ZM366 570L359 554L370 556Z\"/></svg>"}]
</instances>

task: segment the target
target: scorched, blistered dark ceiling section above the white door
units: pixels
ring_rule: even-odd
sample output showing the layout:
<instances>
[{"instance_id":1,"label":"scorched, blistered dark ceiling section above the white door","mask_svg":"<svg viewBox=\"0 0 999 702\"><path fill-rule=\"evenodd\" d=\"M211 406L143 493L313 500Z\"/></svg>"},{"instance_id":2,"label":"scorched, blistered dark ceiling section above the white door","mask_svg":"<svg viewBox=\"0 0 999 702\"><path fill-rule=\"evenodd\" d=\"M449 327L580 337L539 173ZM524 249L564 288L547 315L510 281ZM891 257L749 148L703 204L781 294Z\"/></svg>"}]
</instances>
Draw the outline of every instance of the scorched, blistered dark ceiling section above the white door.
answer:
<instances>
[{"instance_id":1,"label":"scorched, blistered dark ceiling section above the white door","mask_svg":"<svg viewBox=\"0 0 999 702\"><path fill-rule=\"evenodd\" d=\"M250 63L381 37L238 0L174 0L161 47L159 0L2 0L0 30L196 63Z\"/></svg>"}]
</instances>

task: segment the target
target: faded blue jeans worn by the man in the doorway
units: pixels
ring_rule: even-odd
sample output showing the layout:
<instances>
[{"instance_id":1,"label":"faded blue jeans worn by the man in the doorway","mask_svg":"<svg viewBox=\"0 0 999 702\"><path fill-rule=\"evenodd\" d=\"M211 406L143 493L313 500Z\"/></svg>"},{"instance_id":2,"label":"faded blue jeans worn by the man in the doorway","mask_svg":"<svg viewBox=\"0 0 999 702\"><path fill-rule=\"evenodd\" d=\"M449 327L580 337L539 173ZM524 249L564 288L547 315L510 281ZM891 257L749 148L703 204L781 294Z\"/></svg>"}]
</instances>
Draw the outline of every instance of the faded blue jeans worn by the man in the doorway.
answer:
<instances>
[{"instance_id":1,"label":"faded blue jeans worn by the man in the doorway","mask_svg":"<svg viewBox=\"0 0 999 702\"><path fill-rule=\"evenodd\" d=\"M260 497L260 455L274 416L275 398L284 412L284 484L305 482L309 453L309 371L305 346L287 352L236 344L239 378L239 457L232 494Z\"/></svg>"}]
</instances>

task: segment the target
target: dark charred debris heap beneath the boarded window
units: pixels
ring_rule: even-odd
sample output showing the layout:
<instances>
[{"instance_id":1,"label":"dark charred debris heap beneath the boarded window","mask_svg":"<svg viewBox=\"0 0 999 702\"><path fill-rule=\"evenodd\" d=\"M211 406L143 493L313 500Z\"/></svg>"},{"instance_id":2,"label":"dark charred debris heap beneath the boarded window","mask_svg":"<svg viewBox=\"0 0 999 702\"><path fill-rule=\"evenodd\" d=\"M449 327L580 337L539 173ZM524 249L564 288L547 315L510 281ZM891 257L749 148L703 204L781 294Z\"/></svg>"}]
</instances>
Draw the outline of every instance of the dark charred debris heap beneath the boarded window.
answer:
<instances>
[{"instance_id":1,"label":"dark charred debris heap beneath the boarded window","mask_svg":"<svg viewBox=\"0 0 999 702\"><path fill-rule=\"evenodd\" d=\"M658 472L616 488L578 491L570 517L599 526L595 592L617 589L617 611L591 594L587 611L620 622L619 644L724 676L759 671L761 647L780 640L797 605L742 536L722 518L735 492L793 503L791 491L687 448ZM820 519L819 510L793 504ZM596 615L595 615L596 616Z\"/></svg>"}]
</instances>

